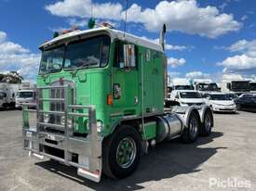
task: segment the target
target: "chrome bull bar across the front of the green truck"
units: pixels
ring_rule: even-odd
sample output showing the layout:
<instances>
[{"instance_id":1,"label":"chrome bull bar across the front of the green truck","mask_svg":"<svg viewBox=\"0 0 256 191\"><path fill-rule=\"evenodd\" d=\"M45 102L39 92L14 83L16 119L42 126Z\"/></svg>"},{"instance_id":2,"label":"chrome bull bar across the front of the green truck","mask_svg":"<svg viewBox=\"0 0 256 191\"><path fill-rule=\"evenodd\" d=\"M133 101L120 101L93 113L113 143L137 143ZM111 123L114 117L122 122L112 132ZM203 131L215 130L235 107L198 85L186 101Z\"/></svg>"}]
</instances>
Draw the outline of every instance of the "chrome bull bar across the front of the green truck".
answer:
<instances>
[{"instance_id":1,"label":"chrome bull bar across the front of the green truck","mask_svg":"<svg viewBox=\"0 0 256 191\"><path fill-rule=\"evenodd\" d=\"M74 105L69 100L71 97L70 85L39 87L37 91L51 90L60 88L64 91L64 97L60 98L38 98L36 104L22 105L22 135L23 147L29 150L30 155L39 159L45 157L56 159L66 165L74 166L78 175L88 178L94 182L101 180L101 141L102 138L97 132L96 109L95 106ZM38 94L39 96L39 94ZM42 109L40 105L44 102L61 102L64 110ZM34 107L34 109L31 109ZM30 109L29 109L30 108ZM77 113L77 109L87 110L88 112ZM36 122L31 126L30 114L35 113ZM62 115L64 116L64 124L54 124L42 121L44 114ZM68 120L74 121L75 117L88 118L88 134L86 137L74 135L74 122L68 125ZM48 132L46 127L63 131ZM61 152L61 157L56 156L52 152L47 152L46 148L57 149Z\"/></svg>"}]
</instances>

